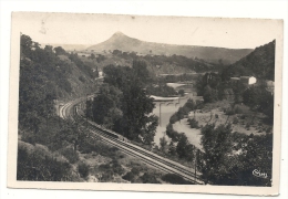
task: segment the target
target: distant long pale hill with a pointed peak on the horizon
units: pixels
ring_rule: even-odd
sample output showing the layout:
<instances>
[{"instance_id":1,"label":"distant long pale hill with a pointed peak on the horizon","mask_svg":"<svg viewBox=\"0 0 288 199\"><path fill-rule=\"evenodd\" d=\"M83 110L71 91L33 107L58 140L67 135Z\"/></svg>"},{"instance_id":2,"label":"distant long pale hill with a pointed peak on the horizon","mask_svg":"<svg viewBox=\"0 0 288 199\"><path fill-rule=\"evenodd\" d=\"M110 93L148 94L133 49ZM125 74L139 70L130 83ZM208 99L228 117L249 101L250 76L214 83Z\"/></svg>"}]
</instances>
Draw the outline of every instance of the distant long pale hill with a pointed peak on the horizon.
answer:
<instances>
[{"instance_id":1,"label":"distant long pale hill with a pointed peak on the horizon","mask_svg":"<svg viewBox=\"0 0 288 199\"><path fill-rule=\"evenodd\" d=\"M187 57L197 57L213 63L218 63L222 59L223 63L234 63L249 54L251 49L224 49L213 46L196 45L175 45L154 42L145 42L134 38L130 38L122 32L114 33L109 40L88 48L89 51L103 52L120 50L123 52L136 52L140 54L154 55L183 55Z\"/></svg>"}]
</instances>

